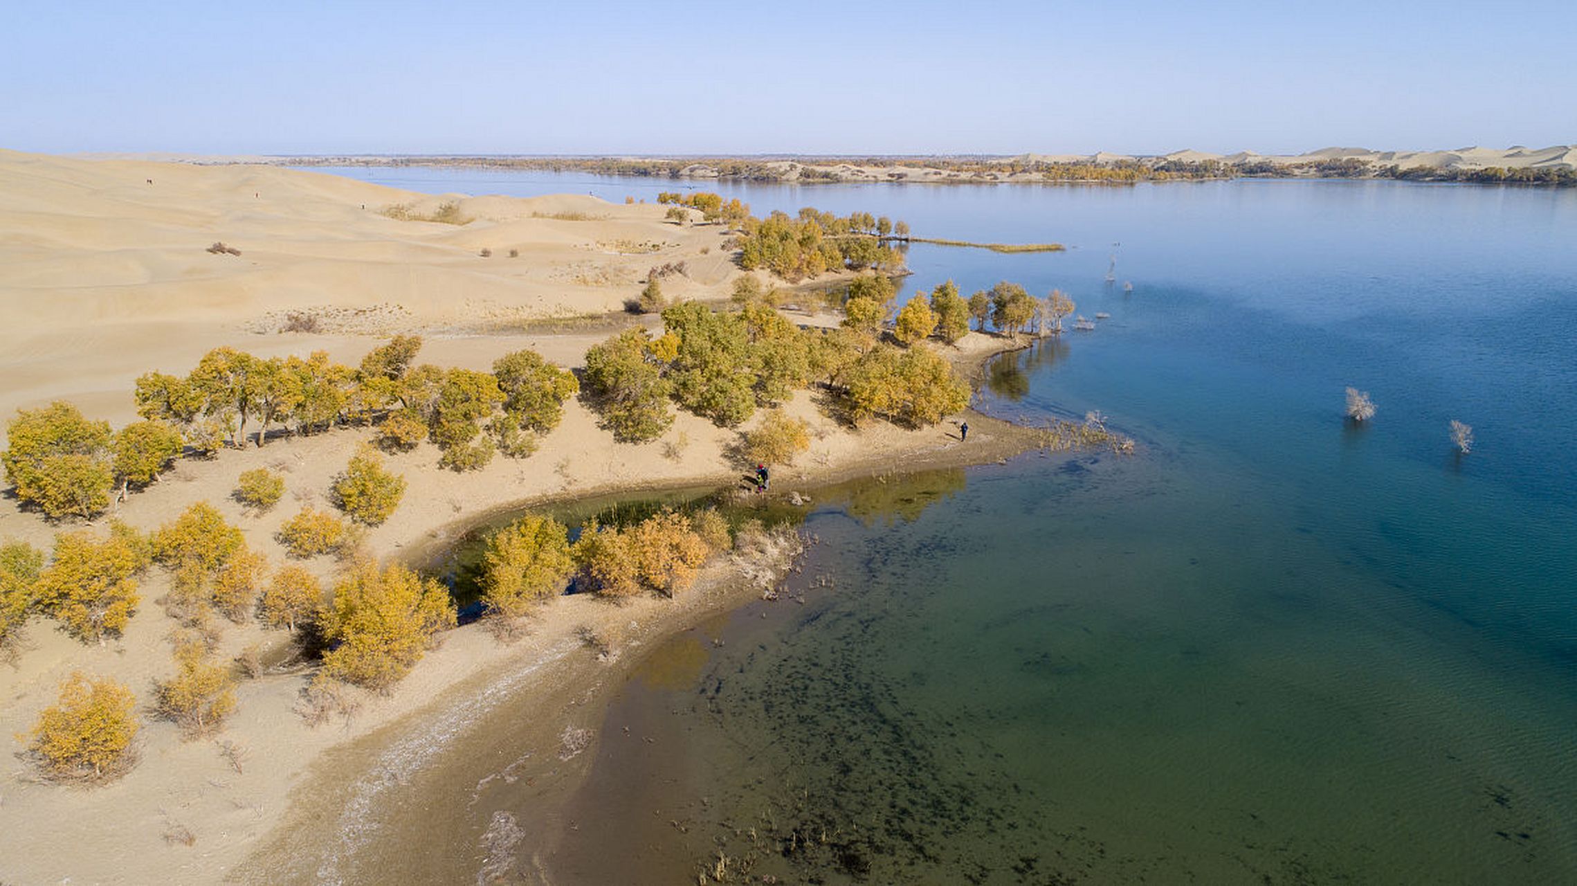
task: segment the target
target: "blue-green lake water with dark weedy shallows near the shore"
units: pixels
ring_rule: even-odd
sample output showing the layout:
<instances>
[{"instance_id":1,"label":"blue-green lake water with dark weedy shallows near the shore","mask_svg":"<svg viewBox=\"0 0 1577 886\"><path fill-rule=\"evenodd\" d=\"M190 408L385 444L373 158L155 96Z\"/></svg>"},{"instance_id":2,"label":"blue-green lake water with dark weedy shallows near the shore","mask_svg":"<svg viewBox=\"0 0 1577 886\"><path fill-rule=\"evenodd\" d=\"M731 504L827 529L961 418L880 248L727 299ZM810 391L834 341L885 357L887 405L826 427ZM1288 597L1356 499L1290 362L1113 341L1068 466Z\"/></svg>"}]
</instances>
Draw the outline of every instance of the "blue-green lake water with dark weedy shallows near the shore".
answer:
<instances>
[{"instance_id":1,"label":"blue-green lake water with dark weedy shallows near the shore","mask_svg":"<svg viewBox=\"0 0 1577 886\"><path fill-rule=\"evenodd\" d=\"M730 881L1577 883L1577 191L699 186L1066 243L915 246L905 292L1009 279L1110 314L1005 356L981 407L1099 408L1140 449L820 500L803 602L684 634L620 692L533 862L552 883L719 856ZM478 779L519 757L495 743ZM475 875L495 812L533 820L497 784L427 836L443 870Z\"/></svg>"}]
</instances>

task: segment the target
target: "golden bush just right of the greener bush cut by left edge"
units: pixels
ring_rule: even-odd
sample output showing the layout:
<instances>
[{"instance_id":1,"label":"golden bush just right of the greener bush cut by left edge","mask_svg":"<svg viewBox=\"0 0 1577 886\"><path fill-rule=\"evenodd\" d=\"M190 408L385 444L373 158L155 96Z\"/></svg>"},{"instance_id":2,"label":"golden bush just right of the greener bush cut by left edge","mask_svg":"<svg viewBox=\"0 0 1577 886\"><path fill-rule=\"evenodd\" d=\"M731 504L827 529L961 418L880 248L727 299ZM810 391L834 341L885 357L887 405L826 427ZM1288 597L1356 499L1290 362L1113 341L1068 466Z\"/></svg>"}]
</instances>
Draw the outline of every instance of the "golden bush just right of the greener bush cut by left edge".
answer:
<instances>
[{"instance_id":1,"label":"golden bush just right of the greener bush cut by left edge","mask_svg":"<svg viewBox=\"0 0 1577 886\"><path fill-rule=\"evenodd\" d=\"M55 536L54 558L33 593L71 635L103 643L106 635L120 634L137 610L136 575L147 560L129 534L112 530L98 541L80 530Z\"/></svg>"}]
</instances>

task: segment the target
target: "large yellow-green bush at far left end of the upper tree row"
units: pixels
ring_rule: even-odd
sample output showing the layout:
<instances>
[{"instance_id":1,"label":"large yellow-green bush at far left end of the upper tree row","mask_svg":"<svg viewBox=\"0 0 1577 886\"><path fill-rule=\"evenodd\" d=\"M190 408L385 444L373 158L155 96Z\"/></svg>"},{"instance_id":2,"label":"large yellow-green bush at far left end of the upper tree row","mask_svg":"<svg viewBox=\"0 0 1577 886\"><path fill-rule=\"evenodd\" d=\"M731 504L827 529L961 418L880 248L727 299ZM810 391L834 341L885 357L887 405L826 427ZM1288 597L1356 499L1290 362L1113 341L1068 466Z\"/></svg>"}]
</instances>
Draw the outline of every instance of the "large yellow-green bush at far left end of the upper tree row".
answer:
<instances>
[{"instance_id":1,"label":"large yellow-green bush at far left end of the upper tree row","mask_svg":"<svg viewBox=\"0 0 1577 886\"><path fill-rule=\"evenodd\" d=\"M0 463L17 498L49 517L93 517L109 508L115 475L107 421L88 421L77 407L55 400L17 410L6 438L11 446Z\"/></svg>"}]
</instances>

